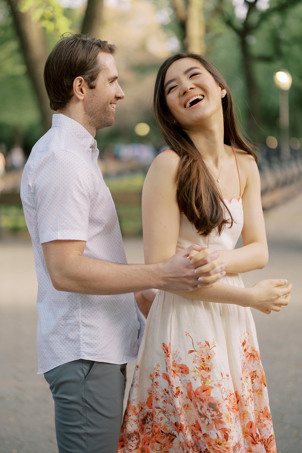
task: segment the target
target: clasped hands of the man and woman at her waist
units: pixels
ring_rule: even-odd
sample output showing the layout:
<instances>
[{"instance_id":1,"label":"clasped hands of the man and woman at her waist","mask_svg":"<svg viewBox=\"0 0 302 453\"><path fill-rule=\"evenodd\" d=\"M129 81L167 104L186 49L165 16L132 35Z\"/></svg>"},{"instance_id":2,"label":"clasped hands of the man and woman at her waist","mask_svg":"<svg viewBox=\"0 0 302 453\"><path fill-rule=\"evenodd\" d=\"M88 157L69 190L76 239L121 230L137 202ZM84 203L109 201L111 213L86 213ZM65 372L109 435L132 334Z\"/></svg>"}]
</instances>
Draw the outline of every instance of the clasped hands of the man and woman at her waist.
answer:
<instances>
[{"instance_id":1,"label":"clasped hands of the man and woman at her waist","mask_svg":"<svg viewBox=\"0 0 302 453\"><path fill-rule=\"evenodd\" d=\"M195 254L195 252L197 252ZM190 259L189 256L192 256ZM162 282L167 291L193 291L201 285L210 286L225 275L225 263L218 263L219 252L196 244L179 251L160 263Z\"/></svg>"}]
</instances>

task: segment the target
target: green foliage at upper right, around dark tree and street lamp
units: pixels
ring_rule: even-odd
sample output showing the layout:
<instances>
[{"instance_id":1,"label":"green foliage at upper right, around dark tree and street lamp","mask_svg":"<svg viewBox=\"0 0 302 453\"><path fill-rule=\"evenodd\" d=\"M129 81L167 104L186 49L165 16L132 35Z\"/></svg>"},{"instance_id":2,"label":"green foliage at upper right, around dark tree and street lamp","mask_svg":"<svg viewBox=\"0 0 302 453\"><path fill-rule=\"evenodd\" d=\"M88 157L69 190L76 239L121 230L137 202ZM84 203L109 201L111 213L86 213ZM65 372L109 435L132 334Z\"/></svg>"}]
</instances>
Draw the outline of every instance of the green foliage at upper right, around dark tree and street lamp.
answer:
<instances>
[{"instance_id":1,"label":"green foliage at upper right, around dark tree and street lamp","mask_svg":"<svg viewBox=\"0 0 302 453\"><path fill-rule=\"evenodd\" d=\"M248 16L247 24L235 17L231 0L216 0L210 3L211 8L209 8L209 1L205 2L205 8L208 8L206 11L207 56L216 63L226 77L233 96L239 104L243 123L247 124L250 111L241 39L245 33L244 27L250 27L251 30L247 36L248 52L252 58L253 74L258 88L256 131L259 143L265 143L268 135L279 138L278 89L273 82L273 73L284 67L293 78L290 90L290 135L301 137L302 76L299 69L302 59L301 2L271 0L268 10L254 9ZM253 3L250 1L246 4L251 6Z\"/></svg>"}]
</instances>

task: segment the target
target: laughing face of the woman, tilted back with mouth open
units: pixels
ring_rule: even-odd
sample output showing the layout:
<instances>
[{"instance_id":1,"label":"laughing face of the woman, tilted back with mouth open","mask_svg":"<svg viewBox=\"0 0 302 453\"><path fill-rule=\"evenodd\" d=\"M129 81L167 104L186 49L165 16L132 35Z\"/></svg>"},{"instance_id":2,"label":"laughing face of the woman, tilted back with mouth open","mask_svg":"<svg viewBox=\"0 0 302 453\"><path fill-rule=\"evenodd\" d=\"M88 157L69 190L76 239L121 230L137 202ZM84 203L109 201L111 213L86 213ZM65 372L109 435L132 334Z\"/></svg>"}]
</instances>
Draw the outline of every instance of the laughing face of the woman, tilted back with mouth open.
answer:
<instances>
[{"instance_id":1,"label":"laughing face of the woman, tilted back with mouth open","mask_svg":"<svg viewBox=\"0 0 302 453\"><path fill-rule=\"evenodd\" d=\"M189 129L222 115L224 88L194 58L180 58L166 72L164 92L173 118L183 129Z\"/></svg>"}]
</instances>

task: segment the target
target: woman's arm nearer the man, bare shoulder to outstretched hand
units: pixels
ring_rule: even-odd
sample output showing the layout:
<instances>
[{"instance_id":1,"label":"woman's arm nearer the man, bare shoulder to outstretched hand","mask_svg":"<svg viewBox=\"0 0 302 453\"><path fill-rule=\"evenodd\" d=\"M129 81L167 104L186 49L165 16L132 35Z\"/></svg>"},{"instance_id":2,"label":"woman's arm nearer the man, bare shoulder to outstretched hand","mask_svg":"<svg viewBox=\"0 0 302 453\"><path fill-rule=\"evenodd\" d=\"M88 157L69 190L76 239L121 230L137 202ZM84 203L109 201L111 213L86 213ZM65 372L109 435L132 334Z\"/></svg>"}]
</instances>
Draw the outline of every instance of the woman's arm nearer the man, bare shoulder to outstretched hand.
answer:
<instances>
[{"instance_id":1,"label":"woman's arm nearer the man, bare shoulder to outstretched hand","mask_svg":"<svg viewBox=\"0 0 302 453\"><path fill-rule=\"evenodd\" d=\"M179 235L180 211L176 198L175 174L179 157L167 152L157 157L146 176L142 192L142 220L145 263L161 262L174 255ZM197 256L197 255L196 255ZM195 257L192 258L195 260ZM278 288L283 280L266 280L253 288L215 283L191 293L174 293L195 300L253 306L264 313L287 305L290 287ZM172 291L171 291L172 292ZM277 305L278 302L278 305Z\"/></svg>"}]
</instances>

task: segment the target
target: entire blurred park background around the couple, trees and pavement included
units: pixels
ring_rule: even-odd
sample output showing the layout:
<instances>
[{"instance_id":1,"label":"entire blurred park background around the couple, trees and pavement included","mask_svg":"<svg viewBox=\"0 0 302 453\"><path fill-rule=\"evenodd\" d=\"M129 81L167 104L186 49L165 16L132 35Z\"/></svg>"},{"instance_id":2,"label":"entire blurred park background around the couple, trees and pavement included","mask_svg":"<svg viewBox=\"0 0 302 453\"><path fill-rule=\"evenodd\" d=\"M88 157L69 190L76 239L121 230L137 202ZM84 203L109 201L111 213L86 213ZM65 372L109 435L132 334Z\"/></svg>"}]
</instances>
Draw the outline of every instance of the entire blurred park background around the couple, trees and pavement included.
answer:
<instances>
[{"instance_id":1,"label":"entire blurred park background around the couple, trees and pavement included","mask_svg":"<svg viewBox=\"0 0 302 453\"><path fill-rule=\"evenodd\" d=\"M143 262L141 189L165 148L151 110L158 68L188 49L229 83L239 125L258 147L270 253L266 269L244 281L294 283L290 307L255 320L278 453L301 453L301 23L301 0L0 0L0 452L57 452L51 395L35 375L36 277L19 186L31 148L51 126L44 63L60 36L75 32L118 49L126 97L96 139L129 262Z\"/></svg>"}]
</instances>

